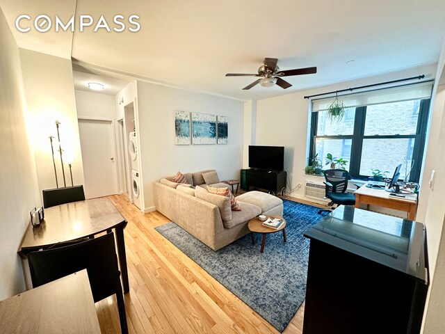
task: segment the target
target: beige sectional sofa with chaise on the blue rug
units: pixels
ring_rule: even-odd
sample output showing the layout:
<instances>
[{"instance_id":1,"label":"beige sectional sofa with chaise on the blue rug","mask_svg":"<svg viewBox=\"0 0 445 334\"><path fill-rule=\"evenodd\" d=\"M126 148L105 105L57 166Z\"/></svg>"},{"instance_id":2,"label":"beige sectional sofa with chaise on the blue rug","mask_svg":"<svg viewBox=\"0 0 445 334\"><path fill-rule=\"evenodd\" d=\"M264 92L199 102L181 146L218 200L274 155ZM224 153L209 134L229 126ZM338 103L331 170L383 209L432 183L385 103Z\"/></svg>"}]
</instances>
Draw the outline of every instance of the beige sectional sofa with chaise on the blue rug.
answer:
<instances>
[{"instance_id":1,"label":"beige sectional sofa with chaise on the blue rug","mask_svg":"<svg viewBox=\"0 0 445 334\"><path fill-rule=\"evenodd\" d=\"M184 174L192 186L176 184L172 177L154 182L156 209L213 250L248 234L248 221L261 213L282 216L282 200L259 191L238 196L241 211L232 211L228 197L207 191L202 174L209 171Z\"/></svg>"}]
</instances>

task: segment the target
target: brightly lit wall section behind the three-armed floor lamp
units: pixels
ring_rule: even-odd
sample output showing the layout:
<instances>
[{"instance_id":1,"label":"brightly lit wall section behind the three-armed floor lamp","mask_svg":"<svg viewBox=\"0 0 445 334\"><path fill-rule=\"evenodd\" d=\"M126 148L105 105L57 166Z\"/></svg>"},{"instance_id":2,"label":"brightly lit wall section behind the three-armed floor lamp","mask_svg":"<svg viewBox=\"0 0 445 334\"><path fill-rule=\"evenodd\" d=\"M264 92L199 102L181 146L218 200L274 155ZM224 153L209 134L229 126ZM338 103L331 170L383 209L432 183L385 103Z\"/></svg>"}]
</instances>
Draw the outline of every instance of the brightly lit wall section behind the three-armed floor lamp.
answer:
<instances>
[{"instance_id":1,"label":"brightly lit wall section behind the three-armed floor lamp","mask_svg":"<svg viewBox=\"0 0 445 334\"><path fill-rule=\"evenodd\" d=\"M76 101L71 61L64 58L20 49L20 60L24 79L26 117L32 125L30 138L35 154L38 185L42 189L56 188L54 166L51 157L49 136L57 139L56 120L60 124L60 141L63 154L74 155L72 165L74 184L83 184L83 167L79 126L77 124ZM55 144L58 143L57 141ZM58 145L58 144L57 144ZM58 147L54 148L58 185L63 186L63 175ZM65 165L67 186L70 185L70 171Z\"/></svg>"}]
</instances>

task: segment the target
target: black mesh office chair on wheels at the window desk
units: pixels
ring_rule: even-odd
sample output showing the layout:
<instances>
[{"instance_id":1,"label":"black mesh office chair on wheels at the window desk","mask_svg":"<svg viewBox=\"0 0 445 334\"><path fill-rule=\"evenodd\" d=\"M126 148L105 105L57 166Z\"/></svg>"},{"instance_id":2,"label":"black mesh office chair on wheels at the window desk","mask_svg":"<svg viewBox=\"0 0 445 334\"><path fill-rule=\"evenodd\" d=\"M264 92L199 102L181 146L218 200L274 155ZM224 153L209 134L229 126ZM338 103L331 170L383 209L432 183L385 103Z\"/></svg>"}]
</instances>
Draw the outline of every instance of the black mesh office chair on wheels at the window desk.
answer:
<instances>
[{"instance_id":1,"label":"black mesh office chair on wheels at the window desk","mask_svg":"<svg viewBox=\"0 0 445 334\"><path fill-rule=\"evenodd\" d=\"M325 196L331 201L327 204L332 206L334 204L339 205L355 205L355 195L353 193L346 193L348 189L349 173L343 169L327 169L323 170L326 182ZM355 184L357 189L359 185ZM321 212L332 212L332 209L318 210L318 214Z\"/></svg>"}]
</instances>

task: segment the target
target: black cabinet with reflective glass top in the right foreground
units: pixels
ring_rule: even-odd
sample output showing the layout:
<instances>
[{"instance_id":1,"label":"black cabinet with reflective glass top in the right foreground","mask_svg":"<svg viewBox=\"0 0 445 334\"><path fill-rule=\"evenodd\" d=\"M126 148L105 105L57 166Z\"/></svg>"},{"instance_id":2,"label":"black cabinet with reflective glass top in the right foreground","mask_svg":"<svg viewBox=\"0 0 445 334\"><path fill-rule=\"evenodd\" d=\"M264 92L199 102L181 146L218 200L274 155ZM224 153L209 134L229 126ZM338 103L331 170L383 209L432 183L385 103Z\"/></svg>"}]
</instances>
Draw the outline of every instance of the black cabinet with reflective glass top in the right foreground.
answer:
<instances>
[{"instance_id":1,"label":"black cabinet with reflective glass top in the right foreground","mask_svg":"<svg viewBox=\"0 0 445 334\"><path fill-rule=\"evenodd\" d=\"M343 206L307 230L303 333L420 333L425 234L421 223Z\"/></svg>"}]
</instances>

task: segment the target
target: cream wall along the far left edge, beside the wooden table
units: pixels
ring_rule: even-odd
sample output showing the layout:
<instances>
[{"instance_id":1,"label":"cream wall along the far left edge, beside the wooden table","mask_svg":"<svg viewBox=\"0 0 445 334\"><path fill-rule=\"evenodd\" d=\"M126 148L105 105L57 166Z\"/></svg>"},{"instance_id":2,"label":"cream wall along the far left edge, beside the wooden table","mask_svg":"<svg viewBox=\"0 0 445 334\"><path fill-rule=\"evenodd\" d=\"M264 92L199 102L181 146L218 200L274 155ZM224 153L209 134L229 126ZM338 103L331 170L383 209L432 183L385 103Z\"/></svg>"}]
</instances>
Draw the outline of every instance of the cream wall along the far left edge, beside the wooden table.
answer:
<instances>
[{"instance_id":1,"label":"cream wall along the far left edge, beside the wooden table","mask_svg":"<svg viewBox=\"0 0 445 334\"><path fill-rule=\"evenodd\" d=\"M17 255L29 223L40 205L34 157L29 148L19 49L0 8L0 300L25 289Z\"/></svg>"}]
</instances>

